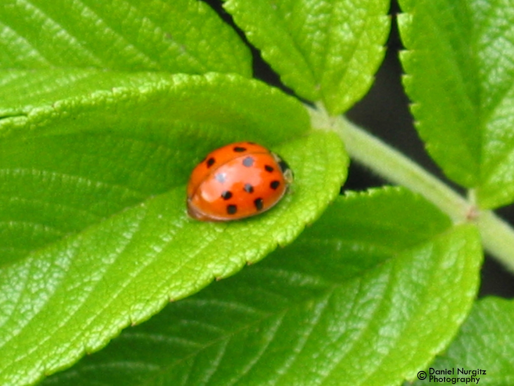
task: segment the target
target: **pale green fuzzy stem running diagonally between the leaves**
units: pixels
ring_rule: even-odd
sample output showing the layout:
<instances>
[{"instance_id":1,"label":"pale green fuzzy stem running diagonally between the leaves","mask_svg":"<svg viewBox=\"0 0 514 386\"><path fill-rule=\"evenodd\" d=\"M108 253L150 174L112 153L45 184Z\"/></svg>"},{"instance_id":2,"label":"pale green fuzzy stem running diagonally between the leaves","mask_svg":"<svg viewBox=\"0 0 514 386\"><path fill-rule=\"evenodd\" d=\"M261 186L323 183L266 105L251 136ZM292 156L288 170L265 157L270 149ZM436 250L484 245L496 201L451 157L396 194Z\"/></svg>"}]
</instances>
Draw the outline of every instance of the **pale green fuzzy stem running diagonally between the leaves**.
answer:
<instances>
[{"instance_id":1,"label":"pale green fuzzy stem running diagonally between the leaves","mask_svg":"<svg viewBox=\"0 0 514 386\"><path fill-rule=\"evenodd\" d=\"M474 205L472 192L470 200L466 200L405 155L343 116L331 117L320 106L307 109L313 127L338 133L354 161L369 167L388 181L424 196L454 223L475 223L485 250L514 272L514 230L490 210L479 211Z\"/></svg>"}]
</instances>

